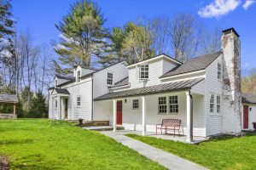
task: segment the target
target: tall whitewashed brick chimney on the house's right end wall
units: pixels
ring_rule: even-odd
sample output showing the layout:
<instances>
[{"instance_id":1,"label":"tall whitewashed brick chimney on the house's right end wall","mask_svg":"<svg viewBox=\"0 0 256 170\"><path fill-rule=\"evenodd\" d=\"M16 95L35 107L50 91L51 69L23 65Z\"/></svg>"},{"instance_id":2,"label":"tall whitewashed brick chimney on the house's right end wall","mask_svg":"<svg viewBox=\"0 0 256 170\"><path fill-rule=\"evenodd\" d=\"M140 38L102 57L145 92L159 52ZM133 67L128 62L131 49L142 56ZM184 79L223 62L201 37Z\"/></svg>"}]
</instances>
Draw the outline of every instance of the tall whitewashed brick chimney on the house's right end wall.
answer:
<instances>
[{"instance_id":1,"label":"tall whitewashed brick chimney on the house's right end wall","mask_svg":"<svg viewBox=\"0 0 256 170\"><path fill-rule=\"evenodd\" d=\"M241 42L234 28L222 31L224 133L241 132ZM229 120L230 119L230 120Z\"/></svg>"}]
</instances>

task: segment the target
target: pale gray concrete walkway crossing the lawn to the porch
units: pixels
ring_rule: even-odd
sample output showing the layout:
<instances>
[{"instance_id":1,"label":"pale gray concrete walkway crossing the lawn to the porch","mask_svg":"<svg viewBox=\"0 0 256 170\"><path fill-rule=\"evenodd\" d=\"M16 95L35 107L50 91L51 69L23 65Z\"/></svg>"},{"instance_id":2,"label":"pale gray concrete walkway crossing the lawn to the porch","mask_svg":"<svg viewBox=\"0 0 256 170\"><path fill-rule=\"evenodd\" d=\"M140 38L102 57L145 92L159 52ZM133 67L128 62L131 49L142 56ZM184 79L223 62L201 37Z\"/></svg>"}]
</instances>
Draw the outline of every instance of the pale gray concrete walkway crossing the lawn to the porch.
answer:
<instances>
[{"instance_id":1,"label":"pale gray concrete walkway crossing the lawn to the porch","mask_svg":"<svg viewBox=\"0 0 256 170\"><path fill-rule=\"evenodd\" d=\"M164 150L157 149L151 145L145 144L140 142L136 139L131 139L124 135L124 133L116 132L113 133L112 131L105 131L102 132L103 134L107 135L108 137L115 139L121 144L128 146L132 150L136 150L139 154L148 157L148 159L152 161L158 162L163 167L172 170L203 170L207 169L206 167L201 167L194 162L187 161L181 157L174 156Z\"/></svg>"}]
</instances>

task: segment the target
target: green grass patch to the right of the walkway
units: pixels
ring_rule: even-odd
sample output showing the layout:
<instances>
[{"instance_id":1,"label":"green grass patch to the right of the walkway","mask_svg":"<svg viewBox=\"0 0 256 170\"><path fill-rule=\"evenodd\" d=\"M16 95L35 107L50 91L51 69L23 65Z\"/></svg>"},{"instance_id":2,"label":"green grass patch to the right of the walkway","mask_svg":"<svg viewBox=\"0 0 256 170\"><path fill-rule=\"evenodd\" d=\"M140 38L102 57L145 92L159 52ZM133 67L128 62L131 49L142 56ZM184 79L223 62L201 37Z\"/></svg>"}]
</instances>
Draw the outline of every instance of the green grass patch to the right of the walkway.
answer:
<instances>
[{"instance_id":1,"label":"green grass patch to the right of the walkway","mask_svg":"<svg viewBox=\"0 0 256 170\"><path fill-rule=\"evenodd\" d=\"M256 168L256 136L253 134L241 138L212 139L201 144L183 144L136 134L127 136L210 169Z\"/></svg>"}]
</instances>

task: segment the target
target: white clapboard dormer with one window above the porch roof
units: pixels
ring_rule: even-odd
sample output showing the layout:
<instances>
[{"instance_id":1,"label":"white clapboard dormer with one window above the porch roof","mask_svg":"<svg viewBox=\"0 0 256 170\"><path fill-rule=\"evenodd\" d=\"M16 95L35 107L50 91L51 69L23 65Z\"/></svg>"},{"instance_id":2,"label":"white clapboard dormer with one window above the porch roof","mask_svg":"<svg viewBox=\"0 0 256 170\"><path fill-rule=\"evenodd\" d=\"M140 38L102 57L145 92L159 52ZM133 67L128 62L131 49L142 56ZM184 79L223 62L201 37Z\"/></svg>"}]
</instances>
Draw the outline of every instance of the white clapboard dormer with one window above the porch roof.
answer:
<instances>
[{"instance_id":1,"label":"white clapboard dormer with one window above the porch roof","mask_svg":"<svg viewBox=\"0 0 256 170\"><path fill-rule=\"evenodd\" d=\"M181 62L172 59L166 54L160 54L154 58L128 65L131 88L160 84L160 76L181 64Z\"/></svg>"}]
</instances>

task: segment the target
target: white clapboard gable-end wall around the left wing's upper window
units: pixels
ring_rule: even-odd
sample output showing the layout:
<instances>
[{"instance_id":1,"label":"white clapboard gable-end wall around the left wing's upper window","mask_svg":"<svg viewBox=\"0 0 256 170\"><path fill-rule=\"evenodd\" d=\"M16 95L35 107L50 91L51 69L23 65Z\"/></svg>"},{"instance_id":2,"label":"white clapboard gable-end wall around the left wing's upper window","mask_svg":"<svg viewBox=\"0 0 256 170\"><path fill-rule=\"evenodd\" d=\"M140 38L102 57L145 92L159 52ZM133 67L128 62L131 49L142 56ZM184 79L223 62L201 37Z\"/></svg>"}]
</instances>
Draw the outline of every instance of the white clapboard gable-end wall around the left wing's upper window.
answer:
<instances>
[{"instance_id":1,"label":"white clapboard gable-end wall around the left wing's upper window","mask_svg":"<svg viewBox=\"0 0 256 170\"><path fill-rule=\"evenodd\" d=\"M93 75L93 97L99 97L103 94L108 94L107 77L108 72L113 73L113 84L128 77L128 70L126 68L126 62L120 62L116 65L109 66L102 71L97 71Z\"/></svg>"}]
</instances>

